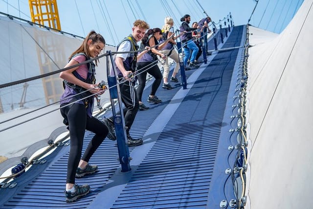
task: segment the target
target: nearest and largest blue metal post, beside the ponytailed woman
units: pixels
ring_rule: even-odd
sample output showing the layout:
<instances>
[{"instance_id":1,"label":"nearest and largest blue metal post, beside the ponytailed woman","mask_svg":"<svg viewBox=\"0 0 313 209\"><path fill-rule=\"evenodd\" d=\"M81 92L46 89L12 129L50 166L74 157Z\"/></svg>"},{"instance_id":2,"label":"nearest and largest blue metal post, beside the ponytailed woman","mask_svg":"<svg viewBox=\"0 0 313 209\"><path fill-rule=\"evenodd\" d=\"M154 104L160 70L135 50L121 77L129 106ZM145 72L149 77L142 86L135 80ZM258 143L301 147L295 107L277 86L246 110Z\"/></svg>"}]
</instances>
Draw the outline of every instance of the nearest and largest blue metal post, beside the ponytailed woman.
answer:
<instances>
[{"instance_id":1,"label":"nearest and largest blue metal post, beside the ponytailed woman","mask_svg":"<svg viewBox=\"0 0 313 209\"><path fill-rule=\"evenodd\" d=\"M110 59L107 59L107 74L108 74L108 85L110 90L111 97L111 105L112 105L112 113L114 118L114 126L115 126L115 134L117 138L117 149L118 149L118 157L119 162L121 163L122 172L130 171L130 156L129 149L127 144L127 137L125 131L125 121L123 114L123 106L121 100L121 93L119 89L119 85L117 85L117 73L115 68L115 62L112 56L111 51L107 51L109 53ZM114 75L110 73L110 61L112 63L112 71ZM114 99L118 99L118 111L115 111L115 103Z\"/></svg>"}]
</instances>

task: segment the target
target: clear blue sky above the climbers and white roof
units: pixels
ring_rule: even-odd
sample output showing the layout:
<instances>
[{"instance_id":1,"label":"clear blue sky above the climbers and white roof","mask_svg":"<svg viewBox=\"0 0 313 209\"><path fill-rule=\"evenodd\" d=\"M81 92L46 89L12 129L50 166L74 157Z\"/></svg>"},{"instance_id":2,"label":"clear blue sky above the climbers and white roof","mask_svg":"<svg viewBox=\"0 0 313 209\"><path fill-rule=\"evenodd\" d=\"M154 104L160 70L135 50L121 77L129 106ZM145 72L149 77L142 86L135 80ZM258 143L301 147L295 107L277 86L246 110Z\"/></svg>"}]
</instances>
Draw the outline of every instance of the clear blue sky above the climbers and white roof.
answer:
<instances>
[{"instance_id":1,"label":"clear blue sky above the climbers and white roof","mask_svg":"<svg viewBox=\"0 0 313 209\"><path fill-rule=\"evenodd\" d=\"M259 0L250 24L280 33L302 2ZM170 15L179 26L179 19L185 14L191 15L191 22L205 17L203 8L215 23L231 13L234 24L242 25L247 23L255 5L255 0L57 0L63 31L85 37L95 30L114 46L131 32L135 19L145 20L151 28L161 28L164 18ZM0 0L0 11L31 20L28 0Z\"/></svg>"}]
</instances>

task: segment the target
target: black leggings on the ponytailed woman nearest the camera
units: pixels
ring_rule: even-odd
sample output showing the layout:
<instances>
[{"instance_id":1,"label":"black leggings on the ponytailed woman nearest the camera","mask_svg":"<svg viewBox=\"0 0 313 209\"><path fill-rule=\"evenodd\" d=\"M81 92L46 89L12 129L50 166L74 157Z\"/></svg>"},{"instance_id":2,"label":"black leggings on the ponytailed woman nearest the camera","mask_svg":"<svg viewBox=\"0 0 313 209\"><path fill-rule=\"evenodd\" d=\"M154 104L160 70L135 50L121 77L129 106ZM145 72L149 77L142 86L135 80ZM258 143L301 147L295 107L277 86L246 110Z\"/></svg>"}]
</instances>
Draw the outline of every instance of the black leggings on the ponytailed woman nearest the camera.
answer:
<instances>
[{"instance_id":1,"label":"black leggings on the ponytailed woman nearest the camera","mask_svg":"<svg viewBox=\"0 0 313 209\"><path fill-rule=\"evenodd\" d=\"M61 115L68 120L70 150L67 162L67 184L75 183L75 174L80 159L89 162L90 157L108 135L108 128L95 117L89 117L83 104L61 108ZM82 156L85 130L95 133Z\"/></svg>"}]
</instances>

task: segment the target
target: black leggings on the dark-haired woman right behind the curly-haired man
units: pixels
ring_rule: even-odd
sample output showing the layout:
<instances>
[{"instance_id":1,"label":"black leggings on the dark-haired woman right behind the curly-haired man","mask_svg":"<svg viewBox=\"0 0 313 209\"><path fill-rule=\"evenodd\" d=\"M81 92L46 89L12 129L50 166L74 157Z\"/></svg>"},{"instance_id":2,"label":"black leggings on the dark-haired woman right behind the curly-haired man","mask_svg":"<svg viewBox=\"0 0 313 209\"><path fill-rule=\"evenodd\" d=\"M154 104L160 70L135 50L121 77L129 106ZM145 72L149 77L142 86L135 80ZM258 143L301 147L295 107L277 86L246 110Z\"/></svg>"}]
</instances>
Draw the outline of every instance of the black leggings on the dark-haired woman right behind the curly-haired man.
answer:
<instances>
[{"instance_id":1,"label":"black leggings on the dark-haired woman right behind the curly-haired man","mask_svg":"<svg viewBox=\"0 0 313 209\"><path fill-rule=\"evenodd\" d=\"M143 90L146 86L147 72L155 78L155 81L153 82L152 87L151 87L150 95L156 95L156 90L162 82L162 73L156 64L157 63L152 64L151 62L137 63L137 69L139 69L138 73L140 73L137 75L138 83L139 83L138 88L137 88L137 94L138 94L139 101L142 101L141 97L142 97Z\"/></svg>"}]
</instances>

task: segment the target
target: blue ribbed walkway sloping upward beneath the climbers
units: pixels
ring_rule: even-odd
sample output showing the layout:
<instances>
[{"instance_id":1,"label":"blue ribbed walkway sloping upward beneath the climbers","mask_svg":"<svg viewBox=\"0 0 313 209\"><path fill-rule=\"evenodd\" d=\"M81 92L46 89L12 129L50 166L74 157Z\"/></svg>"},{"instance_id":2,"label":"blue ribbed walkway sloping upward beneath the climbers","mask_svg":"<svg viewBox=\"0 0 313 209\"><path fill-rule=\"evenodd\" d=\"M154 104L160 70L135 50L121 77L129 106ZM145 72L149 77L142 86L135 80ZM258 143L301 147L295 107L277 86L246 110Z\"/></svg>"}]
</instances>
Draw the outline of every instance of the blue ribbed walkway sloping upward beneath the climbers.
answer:
<instances>
[{"instance_id":1,"label":"blue ribbed walkway sloping upward beneath the climbers","mask_svg":"<svg viewBox=\"0 0 313 209\"><path fill-rule=\"evenodd\" d=\"M244 28L234 27L223 47L240 46ZM76 181L89 184L91 192L66 203L69 146L60 146L45 157L46 163L33 165L14 180L17 186L0 189L0 208L207 208L212 204L208 203L210 186L213 181L219 184L219 178L212 177L221 129L227 126L224 112L238 51L219 52L209 65L186 71L187 90L179 84L173 90L159 88L156 95L163 102L146 102L150 109L138 112L131 130L134 138L144 139L143 145L130 148L131 171L120 172L115 142L106 139L90 159L99 172ZM149 90L144 91L143 101ZM83 149L92 136L86 132Z\"/></svg>"}]
</instances>

